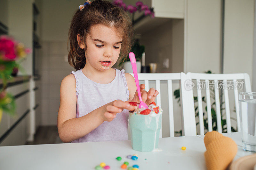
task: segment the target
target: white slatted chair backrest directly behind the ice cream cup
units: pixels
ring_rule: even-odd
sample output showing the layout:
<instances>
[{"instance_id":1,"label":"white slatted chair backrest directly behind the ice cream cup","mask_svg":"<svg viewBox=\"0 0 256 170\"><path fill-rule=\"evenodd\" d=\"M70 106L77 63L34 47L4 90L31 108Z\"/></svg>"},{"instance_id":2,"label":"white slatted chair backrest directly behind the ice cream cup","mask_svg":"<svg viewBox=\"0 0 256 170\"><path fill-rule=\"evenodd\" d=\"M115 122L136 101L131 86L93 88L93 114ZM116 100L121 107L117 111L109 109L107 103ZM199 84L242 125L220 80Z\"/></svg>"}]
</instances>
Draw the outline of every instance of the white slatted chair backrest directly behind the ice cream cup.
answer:
<instances>
[{"instance_id":1,"label":"white slatted chair backrest directly behind the ice cream cup","mask_svg":"<svg viewBox=\"0 0 256 170\"><path fill-rule=\"evenodd\" d=\"M169 107L169 128L170 128L170 137L174 137L174 120L173 120L173 93L172 93L172 80L180 80L181 74L183 76L185 73L139 73L138 79L139 81L144 81L145 90L149 90L149 82L148 81L155 81L156 83L156 90L159 94L156 96L156 105L161 107L161 89L160 89L160 81L167 80L167 92L168 93L168 107ZM132 74L132 76L134 76ZM165 112L165 111L164 111ZM164 114L163 112L163 114ZM162 138L162 126L160 131L160 138Z\"/></svg>"}]
</instances>

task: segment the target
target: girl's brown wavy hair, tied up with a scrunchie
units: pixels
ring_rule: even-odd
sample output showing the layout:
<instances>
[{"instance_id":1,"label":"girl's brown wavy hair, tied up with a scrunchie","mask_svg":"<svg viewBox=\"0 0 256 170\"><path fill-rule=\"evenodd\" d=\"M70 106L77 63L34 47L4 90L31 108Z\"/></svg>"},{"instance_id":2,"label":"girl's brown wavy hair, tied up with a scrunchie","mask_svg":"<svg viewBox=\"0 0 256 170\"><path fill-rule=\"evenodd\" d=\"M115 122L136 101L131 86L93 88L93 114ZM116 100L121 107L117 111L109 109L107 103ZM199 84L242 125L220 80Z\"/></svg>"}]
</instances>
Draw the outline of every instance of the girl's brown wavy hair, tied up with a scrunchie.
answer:
<instances>
[{"instance_id":1,"label":"girl's brown wavy hair, tied up with a scrunchie","mask_svg":"<svg viewBox=\"0 0 256 170\"><path fill-rule=\"evenodd\" d=\"M69 28L70 51L68 53L68 62L76 70L85 66L86 35L90 34L90 28L97 24L114 27L119 35L123 37L117 62L123 60L131 50L134 41L134 30L130 17L124 10L111 2L95 0L92 4L84 6L83 11L79 9L76 11ZM79 42L84 42L84 49L79 47L77 42L78 34L80 34Z\"/></svg>"}]
</instances>

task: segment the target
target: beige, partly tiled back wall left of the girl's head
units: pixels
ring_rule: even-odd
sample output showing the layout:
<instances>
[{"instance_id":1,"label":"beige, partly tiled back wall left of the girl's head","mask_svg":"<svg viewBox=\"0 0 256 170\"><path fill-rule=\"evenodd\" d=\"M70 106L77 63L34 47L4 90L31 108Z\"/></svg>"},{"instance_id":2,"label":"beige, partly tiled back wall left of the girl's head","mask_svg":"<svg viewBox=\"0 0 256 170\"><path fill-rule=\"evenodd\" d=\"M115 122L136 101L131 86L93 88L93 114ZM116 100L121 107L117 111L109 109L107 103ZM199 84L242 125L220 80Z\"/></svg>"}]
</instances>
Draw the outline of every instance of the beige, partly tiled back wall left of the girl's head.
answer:
<instances>
[{"instance_id":1,"label":"beige, partly tiled back wall left of the girl's head","mask_svg":"<svg viewBox=\"0 0 256 170\"><path fill-rule=\"evenodd\" d=\"M80 0L41 0L42 125L57 125L60 83L74 69L67 62L68 30Z\"/></svg>"}]
</instances>

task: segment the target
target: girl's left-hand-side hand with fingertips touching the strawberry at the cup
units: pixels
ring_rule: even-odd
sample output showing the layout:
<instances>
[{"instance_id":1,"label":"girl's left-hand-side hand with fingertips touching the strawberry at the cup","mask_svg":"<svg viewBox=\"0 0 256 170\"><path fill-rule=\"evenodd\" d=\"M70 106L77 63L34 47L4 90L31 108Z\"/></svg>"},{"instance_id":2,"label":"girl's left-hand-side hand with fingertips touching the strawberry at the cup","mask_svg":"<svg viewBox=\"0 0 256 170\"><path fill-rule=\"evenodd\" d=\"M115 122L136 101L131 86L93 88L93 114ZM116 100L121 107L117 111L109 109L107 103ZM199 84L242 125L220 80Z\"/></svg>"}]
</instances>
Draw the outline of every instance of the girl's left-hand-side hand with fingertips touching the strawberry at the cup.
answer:
<instances>
[{"instance_id":1,"label":"girl's left-hand-side hand with fingertips touching the strawberry at the cup","mask_svg":"<svg viewBox=\"0 0 256 170\"><path fill-rule=\"evenodd\" d=\"M103 120L108 122L112 121L116 117L116 114L122 112L124 109L135 110L136 107L129 104L129 102L130 101L124 102L122 100L115 100L104 105L105 107L102 114Z\"/></svg>"}]
</instances>

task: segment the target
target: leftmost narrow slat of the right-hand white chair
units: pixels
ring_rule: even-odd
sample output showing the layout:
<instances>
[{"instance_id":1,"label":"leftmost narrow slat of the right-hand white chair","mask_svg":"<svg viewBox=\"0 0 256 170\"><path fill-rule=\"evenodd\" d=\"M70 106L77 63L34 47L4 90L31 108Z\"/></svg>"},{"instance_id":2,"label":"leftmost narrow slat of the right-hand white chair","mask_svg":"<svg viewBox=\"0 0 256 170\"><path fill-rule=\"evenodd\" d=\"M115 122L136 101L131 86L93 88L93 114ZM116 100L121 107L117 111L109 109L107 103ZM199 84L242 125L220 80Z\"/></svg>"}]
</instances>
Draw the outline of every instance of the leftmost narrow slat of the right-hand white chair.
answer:
<instances>
[{"instance_id":1,"label":"leftmost narrow slat of the right-hand white chair","mask_svg":"<svg viewBox=\"0 0 256 170\"><path fill-rule=\"evenodd\" d=\"M198 115L199 115L199 129L200 135L204 135L204 115L203 115L203 103L202 103L202 93L201 93L201 81L196 79L197 84L197 103L198 103ZM199 85L199 87L198 87Z\"/></svg>"}]
</instances>

